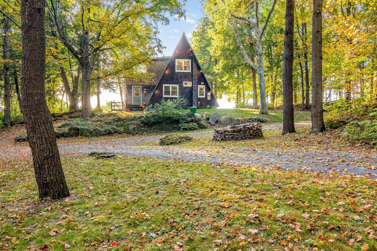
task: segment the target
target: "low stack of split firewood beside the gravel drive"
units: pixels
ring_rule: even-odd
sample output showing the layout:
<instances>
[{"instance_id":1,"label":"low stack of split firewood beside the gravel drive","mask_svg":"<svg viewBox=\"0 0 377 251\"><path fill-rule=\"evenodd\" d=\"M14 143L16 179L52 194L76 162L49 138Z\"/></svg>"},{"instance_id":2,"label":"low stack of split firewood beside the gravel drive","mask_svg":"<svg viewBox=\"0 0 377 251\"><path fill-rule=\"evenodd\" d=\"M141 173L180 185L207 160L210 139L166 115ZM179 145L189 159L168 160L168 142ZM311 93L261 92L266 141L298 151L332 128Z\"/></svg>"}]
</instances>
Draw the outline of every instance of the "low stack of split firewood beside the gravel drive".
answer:
<instances>
[{"instance_id":1,"label":"low stack of split firewood beside the gravel drive","mask_svg":"<svg viewBox=\"0 0 377 251\"><path fill-rule=\"evenodd\" d=\"M250 140L263 138L260 122L215 128L212 141Z\"/></svg>"}]
</instances>

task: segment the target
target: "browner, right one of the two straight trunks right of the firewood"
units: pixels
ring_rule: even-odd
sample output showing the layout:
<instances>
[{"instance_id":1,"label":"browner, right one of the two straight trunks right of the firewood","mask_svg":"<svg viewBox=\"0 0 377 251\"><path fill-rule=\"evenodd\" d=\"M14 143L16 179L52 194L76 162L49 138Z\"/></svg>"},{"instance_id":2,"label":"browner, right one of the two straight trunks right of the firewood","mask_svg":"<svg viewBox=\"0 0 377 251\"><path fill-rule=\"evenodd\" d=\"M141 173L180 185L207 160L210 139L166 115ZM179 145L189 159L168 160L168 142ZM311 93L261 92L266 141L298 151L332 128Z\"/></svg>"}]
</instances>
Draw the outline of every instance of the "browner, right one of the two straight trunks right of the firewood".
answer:
<instances>
[{"instance_id":1,"label":"browner, right one of the two straight trunks right of the firewood","mask_svg":"<svg viewBox=\"0 0 377 251\"><path fill-rule=\"evenodd\" d=\"M311 133L325 131L322 88L322 7L323 0L313 1L311 59Z\"/></svg>"}]
</instances>

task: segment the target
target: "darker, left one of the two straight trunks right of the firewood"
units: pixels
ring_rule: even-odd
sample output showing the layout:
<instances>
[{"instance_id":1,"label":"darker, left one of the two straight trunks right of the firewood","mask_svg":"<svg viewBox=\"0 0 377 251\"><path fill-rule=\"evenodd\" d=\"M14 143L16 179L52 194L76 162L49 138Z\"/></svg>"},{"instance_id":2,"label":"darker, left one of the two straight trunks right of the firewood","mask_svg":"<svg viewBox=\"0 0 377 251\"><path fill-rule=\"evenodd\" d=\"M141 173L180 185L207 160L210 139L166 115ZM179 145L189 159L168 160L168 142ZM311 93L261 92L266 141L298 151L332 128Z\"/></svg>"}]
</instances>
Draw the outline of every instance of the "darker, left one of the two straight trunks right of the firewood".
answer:
<instances>
[{"instance_id":1,"label":"darker, left one of the two straight trunks right of the firewood","mask_svg":"<svg viewBox=\"0 0 377 251\"><path fill-rule=\"evenodd\" d=\"M293 28L294 0L285 7L284 59L283 59L283 134L296 132L293 118Z\"/></svg>"}]
</instances>

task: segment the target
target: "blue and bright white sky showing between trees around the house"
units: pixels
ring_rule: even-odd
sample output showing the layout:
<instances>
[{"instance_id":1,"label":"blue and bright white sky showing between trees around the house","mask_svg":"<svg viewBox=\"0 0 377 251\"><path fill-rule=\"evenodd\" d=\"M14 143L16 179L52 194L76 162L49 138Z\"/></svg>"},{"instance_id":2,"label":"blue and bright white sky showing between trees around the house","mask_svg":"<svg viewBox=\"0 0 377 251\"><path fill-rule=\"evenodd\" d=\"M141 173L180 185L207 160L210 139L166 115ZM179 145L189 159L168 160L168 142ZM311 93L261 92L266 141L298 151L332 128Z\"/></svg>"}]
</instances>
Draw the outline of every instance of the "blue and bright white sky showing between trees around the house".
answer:
<instances>
[{"instance_id":1,"label":"blue and bright white sky showing between trees around the house","mask_svg":"<svg viewBox=\"0 0 377 251\"><path fill-rule=\"evenodd\" d=\"M199 23L200 18L203 16L201 9L202 4L200 0L187 0L184 7L186 10L185 20L175 20L174 17L170 17L170 24L168 26L159 25L158 38L162 41L162 45L166 47L163 55L158 56L171 56L178 44L179 38L182 33L185 32L187 38L191 38L191 32L195 30ZM204 73L205 74L205 73ZM100 102L101 106L106 105L109 101L120 101L120 93L110 93L109 91L101 91ZM97 96L93 96L90 99L92 107L97 105ZM225 98L218 99L219 108L234 108L234 102L229 103Z\"/></svg>"}]
</instances>

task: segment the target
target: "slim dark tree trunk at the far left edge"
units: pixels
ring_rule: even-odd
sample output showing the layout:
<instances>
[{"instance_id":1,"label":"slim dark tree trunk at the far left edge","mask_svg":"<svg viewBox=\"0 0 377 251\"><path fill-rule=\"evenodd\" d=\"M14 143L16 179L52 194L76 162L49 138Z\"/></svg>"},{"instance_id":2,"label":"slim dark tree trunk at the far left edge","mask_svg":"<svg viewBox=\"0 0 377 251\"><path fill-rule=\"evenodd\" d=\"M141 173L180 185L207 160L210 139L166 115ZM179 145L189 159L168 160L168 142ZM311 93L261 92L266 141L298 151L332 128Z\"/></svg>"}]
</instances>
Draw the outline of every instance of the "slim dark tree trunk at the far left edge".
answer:
<instances>
[{"instance_id":1,"label":"slim dark tree trunk at the far left edge","mask_svg":"<svg viewBox=\"0 0 377 251\"><path fill-rule=\"evenodd\" d=\"M4 16L4 35L3 35L3 59L4 59L4 124L11 125L11 78L9 75L9 35L11 27L9 19Z\"/></svg>"}]
</instances>

